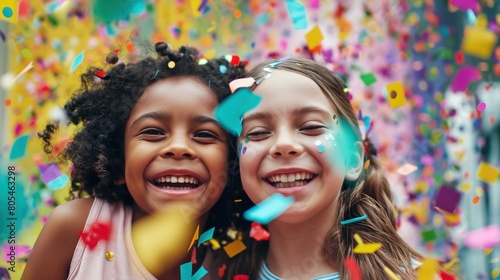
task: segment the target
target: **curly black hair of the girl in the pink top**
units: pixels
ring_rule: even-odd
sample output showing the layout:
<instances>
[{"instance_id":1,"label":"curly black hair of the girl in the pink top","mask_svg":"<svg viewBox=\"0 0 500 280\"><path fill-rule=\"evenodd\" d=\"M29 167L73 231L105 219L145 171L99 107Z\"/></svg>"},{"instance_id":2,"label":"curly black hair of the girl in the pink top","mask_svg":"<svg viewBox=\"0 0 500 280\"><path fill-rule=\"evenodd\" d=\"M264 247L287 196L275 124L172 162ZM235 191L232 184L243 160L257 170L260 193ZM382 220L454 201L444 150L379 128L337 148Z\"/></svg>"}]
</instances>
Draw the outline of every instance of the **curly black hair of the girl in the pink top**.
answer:
<instances>
[{"instance_id":1,"label":"curly black hair of the girl in the pink top","mask_svg":"<svg viewBox=\"0 0 500 280\"><path fill-rule=\"evenodd\" d=\"M221 102L231 94L229 82L245 74L243 63L233 65L222 57L202 60L195 48L182 46L175 51L167 43L158 42L155 49L158 58L128 64L118 63L118 55L110 53L106 62L113 66L108 71L90 67L81 75L81 88L64 105L68 125L77 126L78 130L56 157L60 163L72 164L70 199L90 196L125 204L133 202L127 188L117 187L115 182L124 176L125 124L147 87L169 77L195 77L212 89ZM51 121L38 133L49 155L58 128L59 121ZM234 138L230 143L235 143ZM231 175L237 175L237 156L234 148L229 150L231 181ZM225 189L223 196L227 197L229 190ZM220 203L215 206L218 207L222 207Z\"/></svg>"}]
</instances>

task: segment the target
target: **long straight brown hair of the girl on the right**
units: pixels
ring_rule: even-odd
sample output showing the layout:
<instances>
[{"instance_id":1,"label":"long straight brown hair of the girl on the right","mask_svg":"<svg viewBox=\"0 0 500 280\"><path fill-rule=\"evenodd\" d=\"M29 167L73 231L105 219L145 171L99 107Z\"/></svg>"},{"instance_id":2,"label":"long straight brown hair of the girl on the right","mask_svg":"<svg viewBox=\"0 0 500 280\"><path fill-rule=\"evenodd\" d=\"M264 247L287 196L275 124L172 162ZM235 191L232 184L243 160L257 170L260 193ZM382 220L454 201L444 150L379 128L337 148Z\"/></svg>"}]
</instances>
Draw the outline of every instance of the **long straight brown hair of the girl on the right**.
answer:
<instances>
[{"instance_id":1,"label":"long straight brown hair of the girl on the right","mask_svg":"<svg viewBox=\"0 0 500 280\"><path fill-rule=\"evenodd\" d=\"M266 70L263 70L266 68ZM310 60L286 59L279 63L261 63L248 73L257 82L269 75L269 69L284 70L297 73L313 80L334 106L342 126L347 133L344 145L353 145L363 141L358 127L356 114L344 92L344 83L327 68ZM272 75L272 74L271 74ZM256 87L256 86L254 86ZM352 141L354 140L354 141ZM354 143L353 143L354 142ZM396 214L392 204L392 193L389 182L380 167L376 149L365 140L366 158L370 163L363 168L355 182L344 181L342 190L337 196L337 213L332 228L324 242L323 257L339 268L341 279L351 279L343 261L354 258L360 267L362 279L387 279L387 267L400 275L402 279L416 279L416 271L412 267L412 259L421 261L422 256L411 248L397 233ZM248 203L248 197L241 194ZM341 225L340 222L366 214L367 219ZM249 222L241 221L237 227L243 231L243 241L248 248L234 257L226 270L226 279L234 275L246 274L250 279L257 279L260 267L265 260L268 242L255 241L249 238ZM354 254L356 246L354 234L359 234L365 243L381 243L382 247L373 254Z\"/></svg>"}]
</instances>

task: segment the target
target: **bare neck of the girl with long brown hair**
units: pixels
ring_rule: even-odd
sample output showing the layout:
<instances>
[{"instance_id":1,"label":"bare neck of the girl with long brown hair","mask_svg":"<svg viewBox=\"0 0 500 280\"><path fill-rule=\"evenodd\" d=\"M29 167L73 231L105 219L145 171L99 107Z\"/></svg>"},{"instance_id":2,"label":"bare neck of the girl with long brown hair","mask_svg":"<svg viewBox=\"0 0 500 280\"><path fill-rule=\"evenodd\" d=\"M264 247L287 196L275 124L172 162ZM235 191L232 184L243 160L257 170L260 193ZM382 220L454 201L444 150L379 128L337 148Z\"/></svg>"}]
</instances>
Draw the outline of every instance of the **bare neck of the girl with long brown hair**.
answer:
<instances>
[{"instance_id":1,"label":"bare neck of the girl with long brown hair","mask_svg":"<svg viewBox=\"0 0 500 280\"><path fill-rule=\"evenodd\" d=\"M285 279L311 279L337 271L323 254L324 241L333 227L333 208L301 223L275 220L269 224L266 263L273 274Z\"/></svg>"}]
</instances>

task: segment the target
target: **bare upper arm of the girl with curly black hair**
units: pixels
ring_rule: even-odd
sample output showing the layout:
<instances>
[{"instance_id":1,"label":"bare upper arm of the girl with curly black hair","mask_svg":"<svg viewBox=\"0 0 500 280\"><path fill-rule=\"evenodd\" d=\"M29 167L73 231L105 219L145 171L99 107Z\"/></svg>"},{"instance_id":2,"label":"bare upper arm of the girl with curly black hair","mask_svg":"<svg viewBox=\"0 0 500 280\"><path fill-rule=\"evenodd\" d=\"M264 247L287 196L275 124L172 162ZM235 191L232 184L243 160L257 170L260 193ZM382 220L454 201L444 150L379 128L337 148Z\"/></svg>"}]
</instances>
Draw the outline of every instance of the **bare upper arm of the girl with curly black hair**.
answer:
<instances>
[{"instance_id":1,"label":"bare upper arm of the girl with curly black hair","mask_svg":"<svg viewBox=\"0 0 500 280\"><path fill-rule=\"evenodd\" d=\"M77 199L52 211L33 246L22 280L68 278L73 252L92 202L93 199Z\"/></svg>"}]
</instances>

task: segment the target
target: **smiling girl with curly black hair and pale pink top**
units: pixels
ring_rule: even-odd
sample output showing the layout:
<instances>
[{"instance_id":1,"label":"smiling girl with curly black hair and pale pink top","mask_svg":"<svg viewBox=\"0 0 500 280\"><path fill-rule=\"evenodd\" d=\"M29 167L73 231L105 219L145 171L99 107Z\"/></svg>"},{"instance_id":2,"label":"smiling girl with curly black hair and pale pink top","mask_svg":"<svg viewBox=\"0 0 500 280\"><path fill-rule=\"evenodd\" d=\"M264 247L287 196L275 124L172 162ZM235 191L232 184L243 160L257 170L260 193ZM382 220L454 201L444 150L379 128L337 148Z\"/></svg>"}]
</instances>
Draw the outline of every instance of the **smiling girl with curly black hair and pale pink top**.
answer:
<instances>
[{"instance_id":1,"label":"smiling girl with curly black hair and pale pink top","mask_svg":"<svg viewBox=\"0 0 500 280\"><path fill-rule=\"evenodd\" d=\"M69 124L78 127L58 157L72 164L73 199L51 213L23 279L179 279L181 264L191 261L189 269L201 273L213 266L207 247L182 247L186 240L175 257L151 250L161 253L176 231L191 240L195 225L200 233L227 227L225 186L236 152L213 111L244 67L200 59L189 47L155 48L158 58L136 63L116 64L109 55L116 65L89 69L65 104ZM58 126L39 133L47 153ZM174 213L189 230L136 227L172 204L184 207Z\"/></svg>"}]
</instances>

